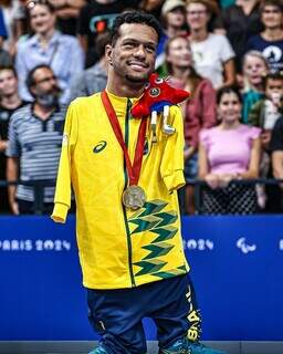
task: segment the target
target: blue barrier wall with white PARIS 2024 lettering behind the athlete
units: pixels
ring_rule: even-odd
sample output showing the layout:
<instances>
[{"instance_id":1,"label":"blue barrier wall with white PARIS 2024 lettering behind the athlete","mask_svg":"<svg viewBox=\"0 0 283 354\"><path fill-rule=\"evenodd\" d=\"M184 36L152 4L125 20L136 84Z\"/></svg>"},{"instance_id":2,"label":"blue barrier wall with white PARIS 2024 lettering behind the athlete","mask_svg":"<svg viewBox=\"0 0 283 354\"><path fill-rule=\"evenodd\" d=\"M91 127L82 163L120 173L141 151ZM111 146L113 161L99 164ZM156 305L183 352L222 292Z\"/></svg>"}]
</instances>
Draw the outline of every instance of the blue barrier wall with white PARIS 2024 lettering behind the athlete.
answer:
<instances>
[{"instance_id":1,"label":"blue barrier wall with white PARIS 2024 lettering behind the athlete","mask_svg":"<svg viewBox=\"0 0 283 354\"><path fill-rule=\"evenodd\" d=\"M0 218L0 341L96 339L74 223ZM187 217L182 233L202 340L283 341L283 217Z\"/></svg>"}]
</instances>

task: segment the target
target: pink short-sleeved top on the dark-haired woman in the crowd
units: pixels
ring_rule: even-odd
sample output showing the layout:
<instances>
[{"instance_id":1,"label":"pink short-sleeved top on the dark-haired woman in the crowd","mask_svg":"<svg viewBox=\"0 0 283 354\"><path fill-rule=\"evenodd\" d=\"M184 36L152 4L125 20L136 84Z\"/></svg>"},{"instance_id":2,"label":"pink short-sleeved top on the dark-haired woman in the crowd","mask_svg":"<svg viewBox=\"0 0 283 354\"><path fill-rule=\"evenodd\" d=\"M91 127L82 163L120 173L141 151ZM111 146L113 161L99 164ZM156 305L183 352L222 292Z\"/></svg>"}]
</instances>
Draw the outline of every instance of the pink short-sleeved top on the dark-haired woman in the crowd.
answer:
<instances>
[{"instance_id":1,"label":"pink short-sleeved top on the dark-haired woman in the crowd","mask_svg":"<svg viewBox=\"0 0 283 354\"><path fill-rule=\"evenodd\" d=\"M249 169L252 143L261 129L240 124L235 129L221 129L216 126L200 132L210 173L237 174Z\"/></svg>"}]
</instances>

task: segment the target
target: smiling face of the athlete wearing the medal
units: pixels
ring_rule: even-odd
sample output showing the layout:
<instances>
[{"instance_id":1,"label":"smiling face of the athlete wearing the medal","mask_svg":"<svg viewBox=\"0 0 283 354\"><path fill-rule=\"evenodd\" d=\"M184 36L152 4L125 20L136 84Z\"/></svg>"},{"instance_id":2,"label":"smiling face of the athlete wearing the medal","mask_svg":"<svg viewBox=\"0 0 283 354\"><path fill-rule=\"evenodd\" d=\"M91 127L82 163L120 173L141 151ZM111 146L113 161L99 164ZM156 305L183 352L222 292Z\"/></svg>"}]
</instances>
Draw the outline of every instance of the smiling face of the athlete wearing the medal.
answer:
<instances>
[{"instance_id":1,"label":"smiling face of the athlete wearing the medal","mask_svg":"<svg viewBox=\"0 0 283 354\"><path fill-rule=\"evenodd\" d=\"M106 48L106 55L116 77L125 83L147 82L155 69L158 34L149 25L123 23L119 37Z\"/></svg>"}]
</instances>

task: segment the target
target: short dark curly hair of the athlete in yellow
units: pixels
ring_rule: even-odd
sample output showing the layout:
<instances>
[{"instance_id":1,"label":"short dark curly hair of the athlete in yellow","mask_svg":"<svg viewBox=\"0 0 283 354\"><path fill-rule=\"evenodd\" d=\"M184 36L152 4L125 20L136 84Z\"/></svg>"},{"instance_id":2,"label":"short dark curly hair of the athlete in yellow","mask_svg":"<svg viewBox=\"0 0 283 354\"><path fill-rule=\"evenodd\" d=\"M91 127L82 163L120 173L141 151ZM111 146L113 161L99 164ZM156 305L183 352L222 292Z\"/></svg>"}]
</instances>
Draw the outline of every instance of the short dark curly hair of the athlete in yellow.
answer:
<instances>
[{"instance_id":1,"label":"short dark curly hair of the athlete in yellow","mask_svg":"<svg viewBox=\"0 0 283 354\"><path fill-rule=\"evenodd\" d=\"M134 11L134 10L125 11L122 14L117 15L113 22L113 27L111 30L112 45L115 45L117 39L119 38L119 28L124 23L138 23L138 24L146 24L148 27L151 27L158 35L158 41L163 33L159 22L153 14L142 12L142 11Z\"/></svg>"}]
</instances>

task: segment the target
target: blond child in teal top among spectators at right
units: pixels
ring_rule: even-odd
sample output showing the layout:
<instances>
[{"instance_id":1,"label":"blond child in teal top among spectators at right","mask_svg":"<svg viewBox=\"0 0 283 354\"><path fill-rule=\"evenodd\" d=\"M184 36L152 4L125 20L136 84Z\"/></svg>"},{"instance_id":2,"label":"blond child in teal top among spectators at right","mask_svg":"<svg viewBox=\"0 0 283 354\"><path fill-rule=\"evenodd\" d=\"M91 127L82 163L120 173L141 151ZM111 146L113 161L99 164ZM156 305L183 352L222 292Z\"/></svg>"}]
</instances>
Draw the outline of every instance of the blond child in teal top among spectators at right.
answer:
<instances>
[{"instance_id":1,"label":"blond child in teal top among spectators at right","mask_svg":"<svg viewBox=\"0 0 283 354\"><path fill-rule=\"evenodd\" d=\"M263 79L269 72L265 58L258 51L243 56L243 112L242 122L248 123L251 107L264 96Z\"/></svg>"}]
</instances>

